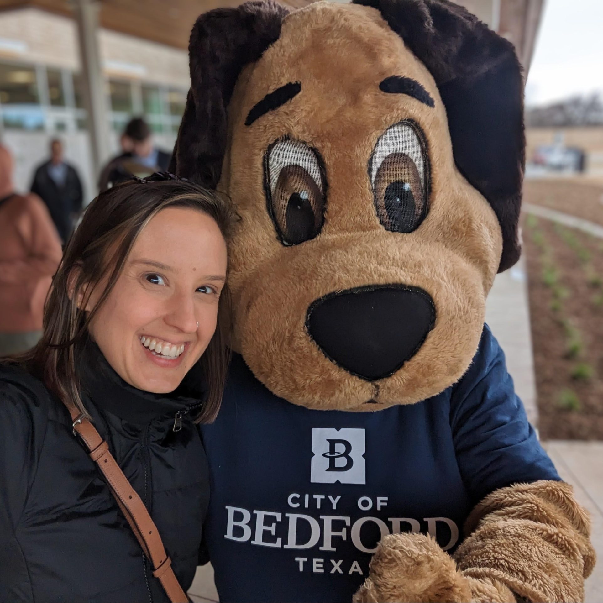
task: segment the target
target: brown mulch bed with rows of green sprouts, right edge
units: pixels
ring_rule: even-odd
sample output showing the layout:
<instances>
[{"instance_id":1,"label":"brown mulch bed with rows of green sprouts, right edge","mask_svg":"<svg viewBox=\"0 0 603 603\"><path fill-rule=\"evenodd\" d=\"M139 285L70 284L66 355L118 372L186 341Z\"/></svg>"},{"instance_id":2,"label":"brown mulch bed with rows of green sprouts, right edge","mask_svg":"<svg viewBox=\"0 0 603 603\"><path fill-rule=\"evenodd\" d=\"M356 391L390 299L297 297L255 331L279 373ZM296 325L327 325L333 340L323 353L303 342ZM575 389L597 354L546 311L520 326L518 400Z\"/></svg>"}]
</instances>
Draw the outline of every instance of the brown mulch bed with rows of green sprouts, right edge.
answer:
<instances>
[{"instance_id":1,"label":"brown mulch bed with rows of green sprouts, right edge","mask_svg":"<svg viewBox=\"0 0 603 603\"><path fill-rule=\"evenodd\" d=\"M525 200L578 215L551 184L530 182ZM541 437L603 440L603 239L524 215L523 245Z\"/></svg>"}]
</instances>

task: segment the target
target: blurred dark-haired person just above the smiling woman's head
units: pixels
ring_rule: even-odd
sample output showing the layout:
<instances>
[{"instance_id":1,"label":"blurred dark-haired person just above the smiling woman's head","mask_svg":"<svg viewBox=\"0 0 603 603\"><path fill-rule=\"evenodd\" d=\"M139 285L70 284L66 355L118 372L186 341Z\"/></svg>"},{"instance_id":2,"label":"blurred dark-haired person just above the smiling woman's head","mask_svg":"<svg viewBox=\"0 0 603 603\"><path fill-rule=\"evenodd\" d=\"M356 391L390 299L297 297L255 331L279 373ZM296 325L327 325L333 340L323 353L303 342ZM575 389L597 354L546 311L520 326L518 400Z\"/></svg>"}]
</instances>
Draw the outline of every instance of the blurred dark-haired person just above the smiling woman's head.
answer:
<instances>
[{"instance_id":1,"label":"blurred dark-haired person just above the smiling woman's head","mask_svg":"<svg viewBox=\"0 0 603 603\"><path fill-rule=\"evenodd\" d=\"M130 119L119 140L122 152L107 163L99 178L99 191L106 191L132 175L144 178L153 172L165 172L171 161L171 153L153 144L151 128L136 117Z\"/></svg>"}]
</instances>

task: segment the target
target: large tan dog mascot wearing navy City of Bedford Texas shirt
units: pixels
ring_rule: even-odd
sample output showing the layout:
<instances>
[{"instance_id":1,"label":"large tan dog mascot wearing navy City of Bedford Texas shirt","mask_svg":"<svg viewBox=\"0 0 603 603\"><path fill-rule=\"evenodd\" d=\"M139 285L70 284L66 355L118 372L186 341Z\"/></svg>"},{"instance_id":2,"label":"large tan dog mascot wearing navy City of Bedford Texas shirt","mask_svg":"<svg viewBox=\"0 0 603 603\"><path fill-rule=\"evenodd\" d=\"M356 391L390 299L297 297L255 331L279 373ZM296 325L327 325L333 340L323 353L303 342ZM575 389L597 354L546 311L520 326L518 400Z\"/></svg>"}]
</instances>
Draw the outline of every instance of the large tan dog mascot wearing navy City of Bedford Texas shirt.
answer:
<instances>
[{"instance_id":1,"label":"large tan dog mascot wearing navy City of Bedford Texas shirt","mask_svg":"<svg viewBox=\"0 0 603 603\"><path fill-rule=\"evenodd\" d=\"M581 600L589 519L484 326L520 253L513 46L445 0L247 2L190 60L175 169L241 216L220 599Z\"/></svg>"}]
</instances>

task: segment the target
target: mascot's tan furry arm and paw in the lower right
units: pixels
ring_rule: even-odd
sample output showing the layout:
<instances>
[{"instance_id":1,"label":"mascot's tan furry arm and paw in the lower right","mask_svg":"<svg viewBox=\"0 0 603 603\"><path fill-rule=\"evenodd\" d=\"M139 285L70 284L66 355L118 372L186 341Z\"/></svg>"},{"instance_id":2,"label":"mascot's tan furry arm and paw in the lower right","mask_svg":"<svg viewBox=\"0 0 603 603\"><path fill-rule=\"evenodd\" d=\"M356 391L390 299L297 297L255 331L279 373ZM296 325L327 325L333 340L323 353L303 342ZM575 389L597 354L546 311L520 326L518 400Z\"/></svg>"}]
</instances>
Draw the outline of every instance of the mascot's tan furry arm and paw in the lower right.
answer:
<instances>
[{"instance_id":1,"label":"mascot's tan furry arm and paw in the lower right","mask_svg":"<svg viewBox=\"0 0 603 603\"><path fill-rule=\"evenodd\" d=\"M423 534L384 538L354 600L584 599L595 552L589 517L570 485L540 481L496 490L472 511L466 531L454 558Z\"/></svg>"}]
</instances>

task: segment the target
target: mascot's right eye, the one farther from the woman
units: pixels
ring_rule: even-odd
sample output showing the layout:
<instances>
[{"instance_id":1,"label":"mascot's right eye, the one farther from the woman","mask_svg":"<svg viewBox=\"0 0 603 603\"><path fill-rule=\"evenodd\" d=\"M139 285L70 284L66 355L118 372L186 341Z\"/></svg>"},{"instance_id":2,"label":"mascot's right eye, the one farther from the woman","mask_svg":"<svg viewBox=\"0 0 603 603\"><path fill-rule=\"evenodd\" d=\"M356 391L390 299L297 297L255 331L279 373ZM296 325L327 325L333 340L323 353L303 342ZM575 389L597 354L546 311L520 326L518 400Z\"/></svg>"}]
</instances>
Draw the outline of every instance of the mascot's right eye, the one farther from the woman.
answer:
<instances>
[{"instance_id":1,"label":"mascot's right eye, the one farther from the woman","mask_svg":"<svg viewBox=\"0 0 603 603\"><path fill-rule=\"evenodd\" d=\"M370 175L377 215L385 229L417 229L427 213L429 172L425 143L416 125L402 122L380 137Z\"/></svg>"}]
</instances>

